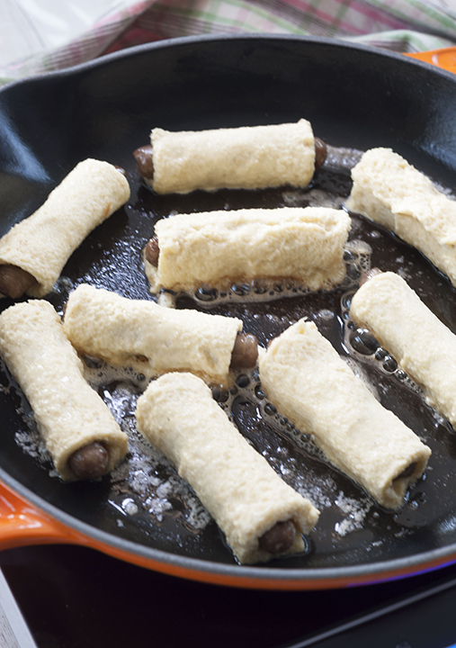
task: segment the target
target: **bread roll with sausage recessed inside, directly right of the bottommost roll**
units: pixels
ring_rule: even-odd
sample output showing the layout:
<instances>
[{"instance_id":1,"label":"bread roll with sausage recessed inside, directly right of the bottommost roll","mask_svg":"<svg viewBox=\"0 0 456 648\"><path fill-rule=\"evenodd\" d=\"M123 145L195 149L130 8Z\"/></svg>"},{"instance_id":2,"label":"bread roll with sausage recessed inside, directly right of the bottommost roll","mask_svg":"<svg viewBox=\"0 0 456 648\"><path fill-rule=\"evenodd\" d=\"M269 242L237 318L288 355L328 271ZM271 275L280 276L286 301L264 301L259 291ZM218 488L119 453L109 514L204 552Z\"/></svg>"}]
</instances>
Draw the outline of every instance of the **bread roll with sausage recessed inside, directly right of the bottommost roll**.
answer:
<instances>
[{"instance_id":1,"label":"bread roll with sausage recessed inside, directly right of the bottommost roll","mask_svg":"<svg viewBox=\"0 0 456 648\"><path fill-rule=\"evenodd\" d=\"M273 339L259 367L281 414L381 506L400 507L431 451L380 405L313 322L299 320Z\"/></svg>"}]
</instances>

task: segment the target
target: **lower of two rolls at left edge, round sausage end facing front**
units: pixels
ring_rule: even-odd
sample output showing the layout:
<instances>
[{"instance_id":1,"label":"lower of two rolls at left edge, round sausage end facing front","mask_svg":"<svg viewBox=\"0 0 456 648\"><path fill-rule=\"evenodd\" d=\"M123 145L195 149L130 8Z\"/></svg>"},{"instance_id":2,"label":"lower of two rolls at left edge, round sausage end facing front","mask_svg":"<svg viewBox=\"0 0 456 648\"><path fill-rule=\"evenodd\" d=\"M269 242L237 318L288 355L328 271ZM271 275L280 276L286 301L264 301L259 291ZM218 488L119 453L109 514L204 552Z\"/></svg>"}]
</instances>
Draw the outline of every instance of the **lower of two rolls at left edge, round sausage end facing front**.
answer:
<instances>
[{"instance_id":1,"label":"lower of two rolls at left edge, round sausage end facing front","mask_svg":"<svg viewBox=\"0 0 456 648\"><path fill-rule=\"evenodd\" d=\"M64 480L100 476L127 454L127 435L85 381L83 364L49 302L15 304L0 315L0 354Z\"/></svg>"}]
</instances>

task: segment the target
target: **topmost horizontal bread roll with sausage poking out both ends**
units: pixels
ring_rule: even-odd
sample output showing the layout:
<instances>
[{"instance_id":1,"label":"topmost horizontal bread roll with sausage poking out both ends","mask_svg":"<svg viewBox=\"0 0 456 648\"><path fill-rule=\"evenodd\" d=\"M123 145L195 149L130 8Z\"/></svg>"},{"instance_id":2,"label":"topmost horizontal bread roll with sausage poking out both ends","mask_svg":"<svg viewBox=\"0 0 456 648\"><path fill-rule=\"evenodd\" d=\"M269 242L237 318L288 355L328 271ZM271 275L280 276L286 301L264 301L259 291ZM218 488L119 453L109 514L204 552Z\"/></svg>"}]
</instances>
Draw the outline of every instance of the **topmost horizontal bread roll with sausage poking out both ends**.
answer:
<instances>
[{"instance_id":1,"label":"topmost horizontal bread roll with sausage poking out both ends","mask_svg":"<svg viewBox=\"0 0 456 648\"><path fill-rule=\"evenodd\" d=\"M326 157L310 123L170 132L156 128L134 152L139 173L156 193L195 189L307 186Z\"/></svg>"}]
</instances>

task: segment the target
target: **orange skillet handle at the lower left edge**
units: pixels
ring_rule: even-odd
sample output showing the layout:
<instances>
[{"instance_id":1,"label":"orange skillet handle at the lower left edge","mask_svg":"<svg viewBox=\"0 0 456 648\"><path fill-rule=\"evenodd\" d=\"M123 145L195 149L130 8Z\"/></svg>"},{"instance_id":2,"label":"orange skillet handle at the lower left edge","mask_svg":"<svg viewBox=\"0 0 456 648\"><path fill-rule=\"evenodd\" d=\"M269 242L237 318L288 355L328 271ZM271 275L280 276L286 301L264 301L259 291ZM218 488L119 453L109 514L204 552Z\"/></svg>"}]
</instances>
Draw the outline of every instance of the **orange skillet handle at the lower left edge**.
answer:
<instances>
[{"instance_id":1,"label":"orange skillet handle at the lower left edge","mask_svg":"<svg viewBox=\"0 0 456 648\"><path fill-rule=\"evenodd\" d=\"M25 545L82 544L82 536L0 482L0 550Z\"/></svg>"}]
</instances>

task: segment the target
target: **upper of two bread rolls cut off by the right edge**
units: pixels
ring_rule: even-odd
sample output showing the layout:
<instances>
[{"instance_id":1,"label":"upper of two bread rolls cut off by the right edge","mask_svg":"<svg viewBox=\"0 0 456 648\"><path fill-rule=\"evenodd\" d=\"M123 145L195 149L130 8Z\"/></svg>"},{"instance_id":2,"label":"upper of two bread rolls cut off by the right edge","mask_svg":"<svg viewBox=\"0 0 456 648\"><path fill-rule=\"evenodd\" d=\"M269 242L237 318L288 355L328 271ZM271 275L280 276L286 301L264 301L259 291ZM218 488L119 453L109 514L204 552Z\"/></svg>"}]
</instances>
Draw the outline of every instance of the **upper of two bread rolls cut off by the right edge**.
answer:
<instances>
[{"instance_id":1,"label":"upper of two bread rolls cut off by the right edge","mask_svg":"<svg viewBox=\"0 0 456 648\"><path fill-rule=\"evenodd\" d=\"M372 148L352 169L347 207L428 257L456 285L456 202L390 148Z\"/></svg>"}]
</instances>

